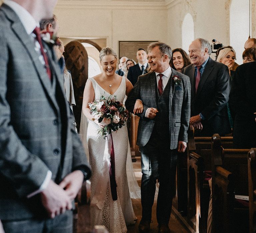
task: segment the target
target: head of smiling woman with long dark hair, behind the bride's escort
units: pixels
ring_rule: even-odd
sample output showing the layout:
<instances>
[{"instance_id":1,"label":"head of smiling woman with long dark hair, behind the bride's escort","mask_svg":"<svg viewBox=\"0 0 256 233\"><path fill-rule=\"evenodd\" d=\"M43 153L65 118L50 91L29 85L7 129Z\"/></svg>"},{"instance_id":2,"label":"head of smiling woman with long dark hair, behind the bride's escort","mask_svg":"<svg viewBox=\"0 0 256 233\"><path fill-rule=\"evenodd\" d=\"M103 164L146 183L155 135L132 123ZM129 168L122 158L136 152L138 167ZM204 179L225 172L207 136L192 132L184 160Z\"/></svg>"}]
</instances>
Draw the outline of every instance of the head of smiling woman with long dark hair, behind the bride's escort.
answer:
<instances>
[{"instance_id":1,"label":"head of smiling woman with long dark hair, behind the bride's escort","mask_svg":"<svg viewBox=\"0 0 256 233\"><path fill-rule=\"evenodd\" d=\"M181 73L181 70L190 64L190 57L183 49L177 48L172 51L172 58L170 60L171 68Z\"/></svg>"}]
</instances>

